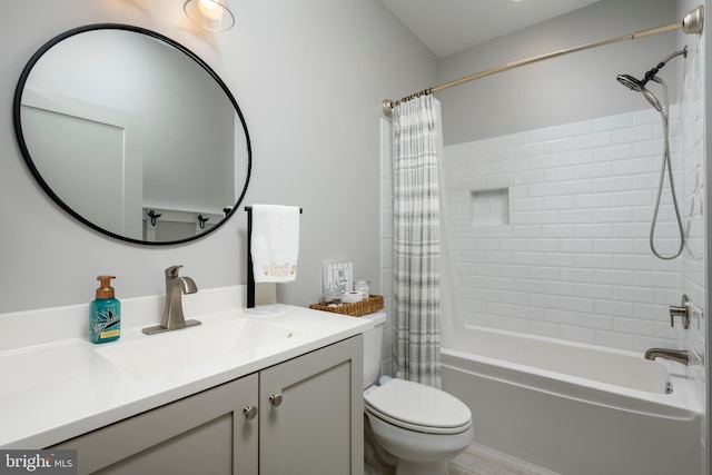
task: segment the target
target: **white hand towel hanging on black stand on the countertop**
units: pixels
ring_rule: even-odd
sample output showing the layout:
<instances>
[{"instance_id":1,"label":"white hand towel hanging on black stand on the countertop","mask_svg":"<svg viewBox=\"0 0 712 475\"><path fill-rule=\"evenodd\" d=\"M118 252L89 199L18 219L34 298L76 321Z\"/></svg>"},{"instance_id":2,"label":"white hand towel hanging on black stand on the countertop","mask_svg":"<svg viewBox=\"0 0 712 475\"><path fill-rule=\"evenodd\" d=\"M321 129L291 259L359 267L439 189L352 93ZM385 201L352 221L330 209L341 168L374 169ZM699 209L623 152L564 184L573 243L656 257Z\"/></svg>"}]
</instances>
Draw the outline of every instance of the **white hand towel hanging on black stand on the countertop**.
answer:
<instances>
[{"instance_id":1,"label":"white hand towel hanging on black stand on the countertop","mask_svg":"<svg viewBox=\"0 0 712 475\"><path fill-rule=\"evenodd\" d=\"M296 280L299 257L299 208L254 205L250 251L255 283Z\"/></svg>"}]
</instances>

